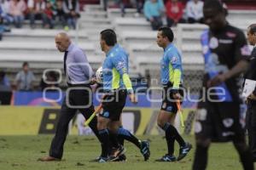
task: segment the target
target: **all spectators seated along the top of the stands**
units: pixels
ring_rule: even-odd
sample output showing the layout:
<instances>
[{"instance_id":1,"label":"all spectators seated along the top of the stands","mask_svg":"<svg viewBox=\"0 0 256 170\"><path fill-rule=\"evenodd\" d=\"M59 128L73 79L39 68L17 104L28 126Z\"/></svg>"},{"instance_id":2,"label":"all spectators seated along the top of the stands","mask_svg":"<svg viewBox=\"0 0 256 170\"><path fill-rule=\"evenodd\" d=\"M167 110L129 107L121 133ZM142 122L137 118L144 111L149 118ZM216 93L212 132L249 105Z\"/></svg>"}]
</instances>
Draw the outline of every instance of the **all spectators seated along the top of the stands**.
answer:
<instances>
[{"instance_id":1,"label":"all spectators seated along the top of the stands","mask_svg":"<svg viewBox=\"0 0 256 170\"><path fill-rule=\"evenodd\" d=\"M201 0L117 0L115 4L123 17L125 8L137 8L135 16L144 14L153 30L163 25L203 22ZM79 6L79 0L0 0L0 34L10 31L11 25L21 28L25 19L32 29L35 20L41 20L43 28L75 29ZM108 0L103 0L103 8L107 10L108 6Z\"/></svg>"}]
</instances>

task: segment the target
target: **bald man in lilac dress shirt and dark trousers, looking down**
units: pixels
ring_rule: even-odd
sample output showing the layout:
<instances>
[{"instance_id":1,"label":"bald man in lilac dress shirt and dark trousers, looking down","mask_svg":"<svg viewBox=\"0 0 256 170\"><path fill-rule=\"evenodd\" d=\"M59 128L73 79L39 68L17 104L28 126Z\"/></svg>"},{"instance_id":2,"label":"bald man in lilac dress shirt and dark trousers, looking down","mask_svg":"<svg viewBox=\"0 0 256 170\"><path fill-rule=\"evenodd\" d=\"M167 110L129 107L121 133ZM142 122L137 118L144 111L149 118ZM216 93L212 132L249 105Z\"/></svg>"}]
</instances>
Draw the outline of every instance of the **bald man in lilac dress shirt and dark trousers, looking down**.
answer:
<instances>
[{"instance_id":1,"label":"bald man in lilac dress shirt and dark trousers, looking down","mask_svg":"<svg viewBox=\"0 0 256 170\"><path fill-rule=\"evenodd\" d=\"M92 104L92 91L89 85L92 69L83 50L71 42L66 33L55 37L58 50L64 53L64 73L67 78L67 94L61 105L61 116L57 124L54 139L49 150L49 156L38 161L60 161L63 155L63 145L67 137L68 123L80 111L85 119L95 111ZM96 117L90 122L90 128L98 136Z\"/></svg>"}]
</instances>

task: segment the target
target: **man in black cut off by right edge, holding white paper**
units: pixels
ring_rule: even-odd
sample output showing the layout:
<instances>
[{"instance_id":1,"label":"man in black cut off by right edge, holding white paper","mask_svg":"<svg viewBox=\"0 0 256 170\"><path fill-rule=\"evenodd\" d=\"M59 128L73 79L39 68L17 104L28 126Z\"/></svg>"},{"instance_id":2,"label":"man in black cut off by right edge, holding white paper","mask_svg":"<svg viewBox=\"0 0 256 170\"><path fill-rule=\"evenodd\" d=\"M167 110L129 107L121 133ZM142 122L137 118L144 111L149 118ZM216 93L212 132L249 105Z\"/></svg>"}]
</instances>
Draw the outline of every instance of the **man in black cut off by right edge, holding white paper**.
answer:
<instances>
[{"instance_id":1,"label":"man in black cut off by right edge, holding white paper","mask_svg":"<svg viewBox=\"0 0 256 170\"><path fill-rule=\"evenodd\" d=\"M250 58L249 69L245 75L246 79L256 81L256 24L253 24L247 29L248 42L254 46ZM253 161L256 161L256 88L253 93L247 98L247 117L246 125L248 131L249 147L253 153Z\"/></svg>"}]
</instances>

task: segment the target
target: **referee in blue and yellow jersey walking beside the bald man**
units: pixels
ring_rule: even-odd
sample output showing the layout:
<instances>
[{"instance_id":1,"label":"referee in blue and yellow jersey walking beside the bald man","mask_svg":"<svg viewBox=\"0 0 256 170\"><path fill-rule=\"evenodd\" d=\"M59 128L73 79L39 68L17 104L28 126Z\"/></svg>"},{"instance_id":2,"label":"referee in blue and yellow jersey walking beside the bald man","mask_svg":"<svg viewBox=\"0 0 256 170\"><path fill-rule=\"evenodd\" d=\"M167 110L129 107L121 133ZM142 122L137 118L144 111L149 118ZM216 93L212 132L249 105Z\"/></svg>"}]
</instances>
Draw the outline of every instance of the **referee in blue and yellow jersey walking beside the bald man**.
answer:
<instances>
[{"instance_id":1,"label":"referee in blue and yellow jersey walking beside the bald man","mask_svg":"<svg viewBox=\"0 0 256 170\"><path fill-rule=\"evenodd\" d=\"M118 137L137 145L143 154L144 161L150 156L148 141L137 139L124 127L120 127L120 116L125 107L127 95L132 103L137 103L131 79L128 75L128 54L117 43L117 37L113 30L107 29L101 32L101 48L106 54L103 62L103 111L98 116L99 139L102 143L102 155L98 162L117 161L124 156L125 148L119 144ZM116 148L109 154L109 147Z\"/></svg>"}]
</instances>

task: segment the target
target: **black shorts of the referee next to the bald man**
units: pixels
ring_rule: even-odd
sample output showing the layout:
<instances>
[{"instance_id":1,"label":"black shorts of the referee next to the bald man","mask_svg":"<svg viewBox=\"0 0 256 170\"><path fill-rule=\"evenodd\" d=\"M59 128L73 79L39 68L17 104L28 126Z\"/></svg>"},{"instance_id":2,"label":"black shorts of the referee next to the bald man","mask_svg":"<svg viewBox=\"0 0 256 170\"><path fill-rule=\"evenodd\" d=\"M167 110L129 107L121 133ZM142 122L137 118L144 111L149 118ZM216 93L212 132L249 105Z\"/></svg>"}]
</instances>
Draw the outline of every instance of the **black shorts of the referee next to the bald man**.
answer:
<instances>
[{"instance_id":1,"label":"black shorts of the referee next to the bald man","mask_svg":"<svg viewBox=\"0 0 256 170\"><path fill-rule=\"evenodd\" d=\"M102 112L99 116L110 119L111 121L119 121L120 115L125 107L127 91L124 89L115 90L111 94L107 94L102 102Z\"/></svg>"}]
</instances>

